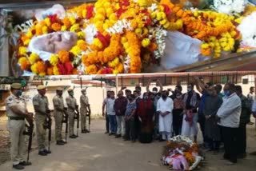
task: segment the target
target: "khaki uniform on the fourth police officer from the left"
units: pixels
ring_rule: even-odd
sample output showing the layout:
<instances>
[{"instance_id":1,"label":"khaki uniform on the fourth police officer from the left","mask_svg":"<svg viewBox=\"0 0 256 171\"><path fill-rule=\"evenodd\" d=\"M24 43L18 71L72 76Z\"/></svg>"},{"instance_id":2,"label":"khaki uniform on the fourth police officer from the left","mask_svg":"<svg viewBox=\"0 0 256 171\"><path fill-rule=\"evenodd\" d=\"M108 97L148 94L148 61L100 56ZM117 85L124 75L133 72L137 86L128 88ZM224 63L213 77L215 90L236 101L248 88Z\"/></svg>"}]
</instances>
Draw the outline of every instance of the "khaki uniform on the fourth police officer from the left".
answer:
<instances>
[{"instance_id":1,"label":"khaki uniform on the fourth police officer from the left","mask_svg":"<svg viewBox=\"0 0 256 171\"><path fill-rule=\"evenodd\" d=\"M69 115L69 134L74 134L74 110L77 105L77 100L74 97L66 97L67 113Z\"/></svg>"}]
</instances>

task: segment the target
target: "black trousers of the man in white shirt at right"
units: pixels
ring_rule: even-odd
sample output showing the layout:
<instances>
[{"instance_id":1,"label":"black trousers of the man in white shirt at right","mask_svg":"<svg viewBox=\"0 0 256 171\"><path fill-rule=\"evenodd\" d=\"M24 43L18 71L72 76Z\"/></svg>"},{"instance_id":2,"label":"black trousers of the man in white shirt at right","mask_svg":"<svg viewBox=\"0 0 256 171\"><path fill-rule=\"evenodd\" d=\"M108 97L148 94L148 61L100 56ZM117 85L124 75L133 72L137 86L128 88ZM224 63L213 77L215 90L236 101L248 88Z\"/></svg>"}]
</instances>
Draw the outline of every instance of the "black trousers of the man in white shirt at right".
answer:
<instances>
[{"instance_id":1,"label":"black trousers of the man in white shirt at right","mask_svg":"<svg viewBox=\"0 0 256 171\"><path fill-rule=\"evenodd\" d=\"M229 128L222 126L222 136L224 141L224 158L230 161L237 162L238 154L238 141L237 141L238 128Z\"/></svg>"}]
</instances>

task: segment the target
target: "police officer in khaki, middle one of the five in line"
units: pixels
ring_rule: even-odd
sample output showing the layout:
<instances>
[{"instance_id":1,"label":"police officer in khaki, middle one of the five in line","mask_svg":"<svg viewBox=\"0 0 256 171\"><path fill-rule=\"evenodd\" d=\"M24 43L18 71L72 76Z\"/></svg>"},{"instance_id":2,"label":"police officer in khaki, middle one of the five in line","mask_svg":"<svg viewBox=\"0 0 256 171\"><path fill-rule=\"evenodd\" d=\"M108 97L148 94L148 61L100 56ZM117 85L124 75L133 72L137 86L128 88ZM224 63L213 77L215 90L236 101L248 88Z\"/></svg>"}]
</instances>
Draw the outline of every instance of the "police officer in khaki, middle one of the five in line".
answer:
<instances>
[{"instance_id":1,"label":"police officer in khaki, middle one of the five in line","mask_svg":"<svg viewBox=\"0 0 256 171\"><path fill-rule=\"evenodd\" d=\"M62 116L66 113L64 109L64 101L62 97L63 89L58 88L54 96L54 120L55 120L55 139L56 145L64 145L65 141L62 140Z\"/></svg>"}]
</instances>

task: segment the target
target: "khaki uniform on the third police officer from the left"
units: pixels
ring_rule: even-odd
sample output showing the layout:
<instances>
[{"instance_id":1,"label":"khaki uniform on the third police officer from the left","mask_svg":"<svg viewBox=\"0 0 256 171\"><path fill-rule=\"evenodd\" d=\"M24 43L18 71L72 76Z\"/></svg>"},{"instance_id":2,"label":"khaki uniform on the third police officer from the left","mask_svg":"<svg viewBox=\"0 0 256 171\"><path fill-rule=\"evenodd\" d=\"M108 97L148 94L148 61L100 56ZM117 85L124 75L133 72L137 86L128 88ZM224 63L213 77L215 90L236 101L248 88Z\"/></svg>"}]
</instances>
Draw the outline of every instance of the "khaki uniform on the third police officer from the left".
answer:
<instances>
[{"instance_id":1,"label":"khaki uniform on the third police officer from the left","mask_svg":"<svg viewBox=\"0 0 256 171\"><path fill-rule=\"evenodd\" d=\"M62 141L62 117L63 112L57 108L64 109L63 98L58 95L54 96L54 120L55 120L55 139L56 141Z\"/></svg>"}]
</instances>

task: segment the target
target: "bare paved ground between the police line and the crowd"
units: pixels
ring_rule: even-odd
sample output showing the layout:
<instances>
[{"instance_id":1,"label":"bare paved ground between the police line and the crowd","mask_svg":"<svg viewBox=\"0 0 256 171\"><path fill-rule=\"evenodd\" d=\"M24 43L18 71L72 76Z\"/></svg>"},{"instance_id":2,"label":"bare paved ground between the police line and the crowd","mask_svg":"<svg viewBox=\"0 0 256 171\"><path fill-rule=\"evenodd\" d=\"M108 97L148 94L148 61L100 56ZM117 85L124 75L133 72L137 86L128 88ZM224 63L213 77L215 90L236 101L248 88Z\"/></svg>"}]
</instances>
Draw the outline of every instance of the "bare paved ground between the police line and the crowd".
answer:
<instances>
[{"instance_id":1,"label":"bare paved ground between the police line and the crowd","mask_svg":"<svg viewBox=\"0 0 256 171\"><path fill-rule=\"evenodd\" d=\"M30 158L33 163L27 166L27 171L155 171L168 170L163 166L160 157L164 142L153 142L148 145L138 142L122 141L104 132L104 121L92 121L92 133L80 134L75 140L68 140L64 146L51 145L52 152L47 157L39 157L34 150ZM0 129L4 126L0 124ZM1 132L0 132L1 133ZM248 152L256 150L256 137L254 126L248 128ZM200 170L255 170L256 157L248 155L246 159L239 160L238 165L226 166L225 161L220 160L222 153L206 153L206 163ZM11 170L11 163L7 161L0 165L0 170Z\"/></svg>"}]
</instances>

